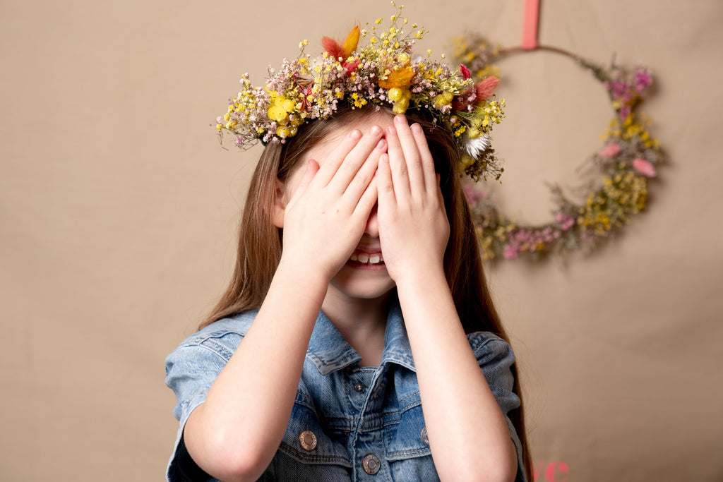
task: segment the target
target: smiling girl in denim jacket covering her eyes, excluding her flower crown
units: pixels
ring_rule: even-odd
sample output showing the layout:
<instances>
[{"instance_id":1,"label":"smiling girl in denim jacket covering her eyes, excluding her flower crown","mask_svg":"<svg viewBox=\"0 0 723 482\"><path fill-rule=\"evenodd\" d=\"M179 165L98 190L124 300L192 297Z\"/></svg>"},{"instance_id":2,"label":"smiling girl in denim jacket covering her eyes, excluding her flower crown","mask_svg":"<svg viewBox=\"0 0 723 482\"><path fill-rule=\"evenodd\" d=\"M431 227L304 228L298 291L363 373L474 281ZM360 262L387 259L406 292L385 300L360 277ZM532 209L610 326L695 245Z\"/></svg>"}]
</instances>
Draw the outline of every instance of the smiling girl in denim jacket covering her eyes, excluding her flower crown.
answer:
<instances>
[{"instance_id":1,"label":"smiling girl in denim jacket covering her eyes, excluding her flower crown","mask_svg":"<svg viewBox=\"0 0 723 482\"><path fill-rule=\"evenodd\" d=\"M233 279L166 360L169 481L527 480L455 135L353 107L262 154Z\"/></svg>"}]
</instances>

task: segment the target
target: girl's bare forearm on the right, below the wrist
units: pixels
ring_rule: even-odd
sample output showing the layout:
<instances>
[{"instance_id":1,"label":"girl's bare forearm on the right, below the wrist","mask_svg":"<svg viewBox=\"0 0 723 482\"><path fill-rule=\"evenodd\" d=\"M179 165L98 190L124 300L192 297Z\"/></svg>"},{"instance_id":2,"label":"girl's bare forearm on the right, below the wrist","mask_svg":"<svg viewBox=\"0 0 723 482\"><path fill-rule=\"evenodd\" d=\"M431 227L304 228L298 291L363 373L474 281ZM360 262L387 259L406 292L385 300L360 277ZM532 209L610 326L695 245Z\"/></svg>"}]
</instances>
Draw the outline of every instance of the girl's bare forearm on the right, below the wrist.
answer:
<instances>
[{"instance_id":1,"label":"girl's bare forearm on the right, below the wrist","mask_svg":"<svg viewBox=\"0 0 723 482\"><path fill-rule=\"evenodd\" d=\"M512 481L510 433L441 268L398 282L432 457L442 480Z\"/></svg>"}]
</instances>

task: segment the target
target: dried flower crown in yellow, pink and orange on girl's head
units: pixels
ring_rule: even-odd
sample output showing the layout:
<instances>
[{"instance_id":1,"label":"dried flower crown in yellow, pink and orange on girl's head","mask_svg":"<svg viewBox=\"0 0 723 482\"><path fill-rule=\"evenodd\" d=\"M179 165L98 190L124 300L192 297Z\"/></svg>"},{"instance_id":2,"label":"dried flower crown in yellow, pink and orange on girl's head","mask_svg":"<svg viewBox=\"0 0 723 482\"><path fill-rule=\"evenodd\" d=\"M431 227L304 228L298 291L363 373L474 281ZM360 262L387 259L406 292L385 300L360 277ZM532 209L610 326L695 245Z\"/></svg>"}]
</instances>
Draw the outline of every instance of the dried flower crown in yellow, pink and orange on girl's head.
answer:
<instances>
[{"instance_id":1,"label":"dried flower crown in yellow, pink and orange on girl's head","mask_svg":"<svg viewBox=\"0 0 723 482\"><path fill-rule=\"evenodd\" d=\"M499 79L489 76L475 85L464 65L450 69L432 60L429 50L427 58L412 59L411 47L428 31L413 23L406 32L403 6L391 3L396 11L387 30L377 30L382 22L378 18L371 30L354 27L343 43L325 37L325 51L316 58L304 53L309 45L304 40L296 60L284 59L278 71L269 68L263 87L254 87L244 74L239 94L217 119L219 134L234 135L239 147L259 140L265 145L285 142L301 124L329 119L340 102L351 108L386 104L402 114L408 108L426 109L435 123L447 124L454 133L461 171L475 181L499 179L503 169L489 138L492 126L504 117L505 100L494 100L492 94ZM360 37L369 37L369 44L359 47Z\"/></svg>"}]
</instances>

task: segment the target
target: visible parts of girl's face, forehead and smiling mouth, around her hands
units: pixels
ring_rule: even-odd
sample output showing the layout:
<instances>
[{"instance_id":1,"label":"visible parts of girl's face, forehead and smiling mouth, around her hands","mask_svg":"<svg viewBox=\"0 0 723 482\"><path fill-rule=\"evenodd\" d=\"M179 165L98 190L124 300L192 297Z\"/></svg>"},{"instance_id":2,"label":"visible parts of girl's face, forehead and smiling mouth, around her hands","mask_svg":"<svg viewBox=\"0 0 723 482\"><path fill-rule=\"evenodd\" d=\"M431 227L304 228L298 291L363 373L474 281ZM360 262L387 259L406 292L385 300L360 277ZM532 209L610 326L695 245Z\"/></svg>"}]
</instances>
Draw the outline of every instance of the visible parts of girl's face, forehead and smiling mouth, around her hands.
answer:
<instances>
[{"instance_id":1,"label":"visible parts of girl's face, forehead and smiling mouth, around her hands","mask_svg":"<svg viewBox=\"0 0 723 482\"><path fill-rule=\"evenodd\" d=\"M312 147L299 164L306 165L307 160L314 159L320 165L323 165L325 159L328 158L328 154L335 149L339 137L351 132L352 129L359 129L366 134L375 125L385 129L387 126L393 125L393 118L385 113L372 114L347 124L338 129L336 135L330 136L328 140ZM287 202L304 175L302 171L304 169L299 168L288 178L285 195ZM356 299L374 299L387 296L394 288L395 283L389 277L383 259L384 255L379 240L377 207L375 206L369 215L364 234L359 239L354 254L331 280L329 295L332 298Z\"/></svg>"}]
</instances>

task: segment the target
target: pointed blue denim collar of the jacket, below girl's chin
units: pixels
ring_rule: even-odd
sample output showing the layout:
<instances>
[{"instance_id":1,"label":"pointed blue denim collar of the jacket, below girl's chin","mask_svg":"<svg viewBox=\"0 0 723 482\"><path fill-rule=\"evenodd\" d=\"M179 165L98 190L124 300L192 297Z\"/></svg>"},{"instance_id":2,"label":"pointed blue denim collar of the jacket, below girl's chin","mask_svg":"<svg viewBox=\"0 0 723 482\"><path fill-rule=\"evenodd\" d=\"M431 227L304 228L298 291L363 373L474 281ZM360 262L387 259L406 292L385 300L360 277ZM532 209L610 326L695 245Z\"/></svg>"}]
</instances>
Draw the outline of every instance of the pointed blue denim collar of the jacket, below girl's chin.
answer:
<instances>
[{"instance_id":1,"label":"pointed blue denim collar of the jacket, below girl's chin","mask_svg":"<svg viewBox=\"0 0 723 482\"><path fill-rule=\"evenodd\" d=\"M319 313L311 340L307 358L314 363L322 375L343 369L361 361L361 356L351 347L323 312ZM384 332L384 351L382 367L396 363L414 371L414 359L407 337L399 302L394 301L387 315Z\"/></svg>"}]
</instances>

